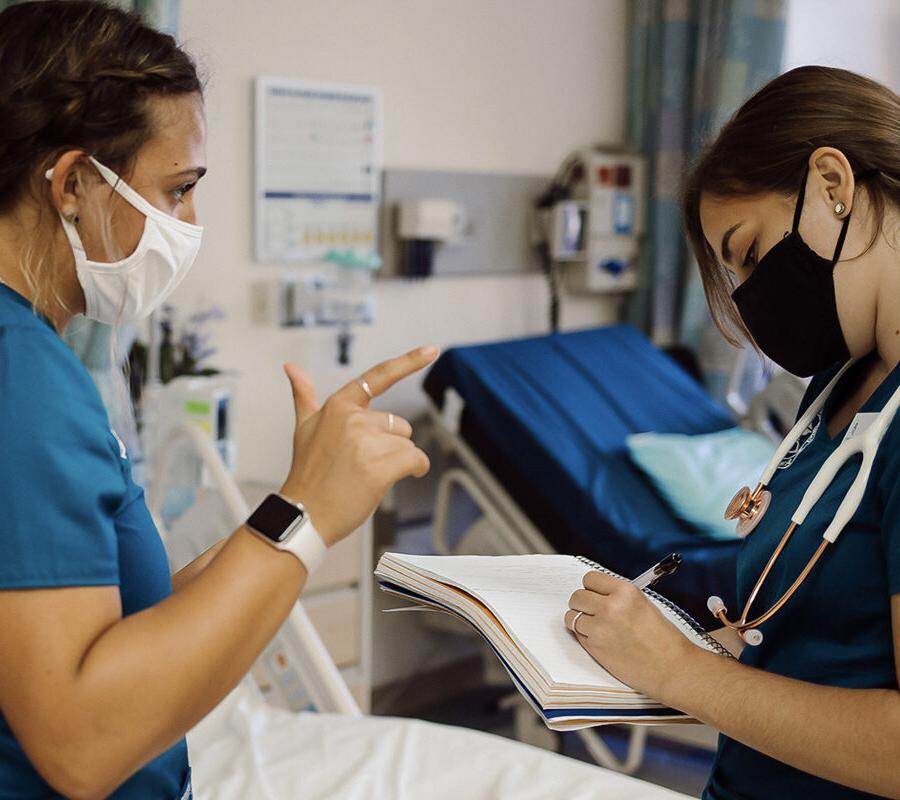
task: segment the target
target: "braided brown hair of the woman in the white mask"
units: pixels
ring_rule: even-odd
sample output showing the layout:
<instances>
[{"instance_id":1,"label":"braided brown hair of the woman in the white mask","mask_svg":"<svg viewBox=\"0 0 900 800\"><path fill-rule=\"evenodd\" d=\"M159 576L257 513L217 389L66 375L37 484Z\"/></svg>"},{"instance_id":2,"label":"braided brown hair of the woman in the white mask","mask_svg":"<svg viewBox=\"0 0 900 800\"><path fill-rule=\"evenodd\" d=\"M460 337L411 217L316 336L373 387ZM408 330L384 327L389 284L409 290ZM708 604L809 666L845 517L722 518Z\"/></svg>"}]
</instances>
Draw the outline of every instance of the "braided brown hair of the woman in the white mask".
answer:
<instances>
[{"instance_id":1,"label":"braided brown hair of the woman in the white mask","mask_svg":"<svg viewBox=\"0 0 900 800\"><path fill-rule=\"evenodd\" d=\"M86 0L10 6L0 13L0 215L29 194L48 207L43 174L66 150L128 174L154 133L147 100L202 92L190 56L136 14ZM40 309L54 237L35 234L20 267Z\"/></svg>"}]
</instances>

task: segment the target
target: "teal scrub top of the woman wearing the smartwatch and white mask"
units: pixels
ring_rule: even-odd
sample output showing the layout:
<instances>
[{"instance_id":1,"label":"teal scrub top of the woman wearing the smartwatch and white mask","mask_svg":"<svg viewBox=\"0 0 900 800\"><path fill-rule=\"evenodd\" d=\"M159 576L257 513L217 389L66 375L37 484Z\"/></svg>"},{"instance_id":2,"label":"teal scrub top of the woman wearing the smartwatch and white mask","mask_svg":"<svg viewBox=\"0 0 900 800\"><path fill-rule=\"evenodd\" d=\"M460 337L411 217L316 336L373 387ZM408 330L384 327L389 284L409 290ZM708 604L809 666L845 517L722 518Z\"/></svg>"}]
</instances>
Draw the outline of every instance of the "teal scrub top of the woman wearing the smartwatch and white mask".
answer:
<instances>
[{"instance_id":1,"label":"teal scrub top of the woman wearing the smartwatch and white mask","mask_svg":"<svg viewBox=\"0 0 900 800\"><path fill-rule=\"evenodd\" d=\"M171 594L143 490L93 381L49 322L0 284L0 591L118 586L122 614ZM190 796L182 740L110 797ZM0 797L61 797L0 714Z\"/></svg>"}]
</instances>

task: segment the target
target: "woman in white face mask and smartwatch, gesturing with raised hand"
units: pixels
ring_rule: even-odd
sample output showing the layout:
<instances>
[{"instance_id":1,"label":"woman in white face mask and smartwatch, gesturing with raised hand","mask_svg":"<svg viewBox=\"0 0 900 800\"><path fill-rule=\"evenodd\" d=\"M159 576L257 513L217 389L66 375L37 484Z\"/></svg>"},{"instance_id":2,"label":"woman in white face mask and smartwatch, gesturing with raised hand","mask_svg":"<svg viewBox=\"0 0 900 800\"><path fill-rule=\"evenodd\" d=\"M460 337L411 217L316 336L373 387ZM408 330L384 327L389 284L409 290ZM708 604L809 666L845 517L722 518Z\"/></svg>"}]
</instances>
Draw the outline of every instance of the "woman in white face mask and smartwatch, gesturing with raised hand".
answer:
<instances>
[{"instance_id":1,"label":"woman in white face mask and smartwatch, gesturing with raised hand","mask_svg":"<svg viewBox=\"0 0 900 800\"><path fill-rule=\"evenodd\" d=\"M171 37L99 3L0 13L0 796L189 797L184 734L247 672L326 548L428 459L369 399L423 348L320 407L286 372L293 464L170 576L127 457L59 338L150 313L200 247L206 121Z\"/></svg>"}]
</instances>

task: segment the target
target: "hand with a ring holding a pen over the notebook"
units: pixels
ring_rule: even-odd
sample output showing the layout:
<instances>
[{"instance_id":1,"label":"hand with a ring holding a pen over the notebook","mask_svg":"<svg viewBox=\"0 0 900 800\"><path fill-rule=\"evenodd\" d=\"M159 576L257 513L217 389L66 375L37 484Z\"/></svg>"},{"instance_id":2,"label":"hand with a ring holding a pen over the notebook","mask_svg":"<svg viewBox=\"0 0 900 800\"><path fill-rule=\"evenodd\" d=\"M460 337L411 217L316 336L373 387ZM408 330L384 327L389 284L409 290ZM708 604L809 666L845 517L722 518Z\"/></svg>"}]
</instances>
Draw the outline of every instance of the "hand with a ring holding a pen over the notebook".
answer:
<instances>
[{"instance_id":1,"label":"hand with a ring holding a pen over the notebook","mask_svg":"<svg viewBox=\"0 0 900 800\"><path fill-rule=\"evenodd\" d=\"M629 581L589 572L582 583L569 598L566 627L584 612L575 626L581 646L620 681L660 700L665 676L699 648Z\"/></svg>"}]
</instances>

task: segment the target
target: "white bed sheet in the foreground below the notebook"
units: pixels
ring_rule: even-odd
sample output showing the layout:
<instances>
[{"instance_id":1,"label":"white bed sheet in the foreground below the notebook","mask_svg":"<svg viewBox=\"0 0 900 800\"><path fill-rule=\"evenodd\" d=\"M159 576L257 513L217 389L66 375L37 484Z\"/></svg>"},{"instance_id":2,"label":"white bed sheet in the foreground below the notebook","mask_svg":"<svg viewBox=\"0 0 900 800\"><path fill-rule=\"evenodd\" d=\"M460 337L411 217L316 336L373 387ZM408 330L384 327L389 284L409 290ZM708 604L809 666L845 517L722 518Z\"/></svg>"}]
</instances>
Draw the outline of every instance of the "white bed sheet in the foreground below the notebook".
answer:
<instances>
[{"instance_id":1,"label":"white bed sheet in the foreground below the notebook","mask_svg":"<svg viewBox=\"0 0 900 800\"><path fill-rule=\"evenodd\" d=\"M240 686L188 734L197 800L677 800L530 745L390 717L295 714Z\"/></svg>"}]
</instances>

